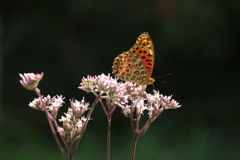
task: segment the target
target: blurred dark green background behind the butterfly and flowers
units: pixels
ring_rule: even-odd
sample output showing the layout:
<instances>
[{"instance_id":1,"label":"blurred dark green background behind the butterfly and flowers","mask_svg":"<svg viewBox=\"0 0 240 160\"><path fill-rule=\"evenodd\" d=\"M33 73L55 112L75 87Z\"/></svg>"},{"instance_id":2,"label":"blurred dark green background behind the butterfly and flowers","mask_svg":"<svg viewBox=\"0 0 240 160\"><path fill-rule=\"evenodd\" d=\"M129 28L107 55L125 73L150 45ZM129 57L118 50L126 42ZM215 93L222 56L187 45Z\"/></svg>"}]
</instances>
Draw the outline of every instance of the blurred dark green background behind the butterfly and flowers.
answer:
<instances>
[{"instance_id":1,"label":"blurred dark green background behind the butterfly and flowers","mask_svg":"<svg viewBox=\"0 0 240 160\"><path fill-rule=\"evenodd\" d=\"M68 100L94 96L77 87L87 75L111 73L118 54L149 32L153 78L182 107L167 110L140 138L136 160L240 159L240 2L238 0L0 1L0 159L64 159L36 97L19 73L41 73L42 94ZM148 86L148 92L152 86ZM147 116L145 113L144 116ZM74 159L105 160L107 120L98 105ZM130 121L113 114L111 159L131 157Z\"/></svg>"}]
</instances>

